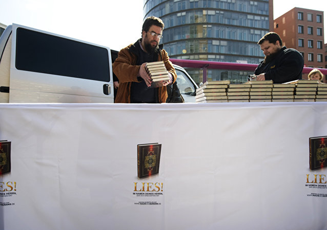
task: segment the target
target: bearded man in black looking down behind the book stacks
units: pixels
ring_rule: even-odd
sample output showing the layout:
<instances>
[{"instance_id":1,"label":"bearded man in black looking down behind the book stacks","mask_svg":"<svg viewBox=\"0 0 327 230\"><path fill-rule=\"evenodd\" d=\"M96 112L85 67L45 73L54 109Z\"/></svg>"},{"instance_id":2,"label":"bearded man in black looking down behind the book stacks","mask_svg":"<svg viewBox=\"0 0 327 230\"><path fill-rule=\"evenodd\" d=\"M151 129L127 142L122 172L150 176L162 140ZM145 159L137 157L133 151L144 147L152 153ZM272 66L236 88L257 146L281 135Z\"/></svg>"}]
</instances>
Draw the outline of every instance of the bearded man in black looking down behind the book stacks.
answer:
<instances>
[{"instance_id":1,"label":"bearded man in black looking down behind the book stacks","mask_svg":"<svg viewBox=\"0 0 327 230\"><path fill-rule=\"evenodd\" d=\"M257 81L273 80L274 83L285 83L302 78L302 55L297 50L282 47L278 34L267 33L258 44L265 57L254 72Z\"/></svg>"}]
</instances>

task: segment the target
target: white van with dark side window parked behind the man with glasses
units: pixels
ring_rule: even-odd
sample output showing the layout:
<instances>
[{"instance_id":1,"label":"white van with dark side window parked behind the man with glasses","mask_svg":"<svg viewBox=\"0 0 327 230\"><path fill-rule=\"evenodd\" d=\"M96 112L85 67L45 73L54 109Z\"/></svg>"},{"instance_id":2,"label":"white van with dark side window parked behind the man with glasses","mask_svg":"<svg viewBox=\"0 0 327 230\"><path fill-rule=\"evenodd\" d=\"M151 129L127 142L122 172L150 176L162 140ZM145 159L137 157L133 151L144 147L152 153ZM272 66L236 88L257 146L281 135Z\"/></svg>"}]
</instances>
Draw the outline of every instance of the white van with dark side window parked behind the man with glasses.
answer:
<instances>
[{"instance_id":1,"label":"white van with dark side window parked behind the man with glasses","mask_svg":"<svg viewBox=\"0 0 327 230\"><path fill-rule=\"evenodd\" d=\"M117 53L10 25L0 37L0 103L113 103L112 62ZM179 78L188 78L183 80L188 82L187 90L180 90L185 101L195 102L197 85L182 67L174 66Z\"/></svg>"}]
</instances>

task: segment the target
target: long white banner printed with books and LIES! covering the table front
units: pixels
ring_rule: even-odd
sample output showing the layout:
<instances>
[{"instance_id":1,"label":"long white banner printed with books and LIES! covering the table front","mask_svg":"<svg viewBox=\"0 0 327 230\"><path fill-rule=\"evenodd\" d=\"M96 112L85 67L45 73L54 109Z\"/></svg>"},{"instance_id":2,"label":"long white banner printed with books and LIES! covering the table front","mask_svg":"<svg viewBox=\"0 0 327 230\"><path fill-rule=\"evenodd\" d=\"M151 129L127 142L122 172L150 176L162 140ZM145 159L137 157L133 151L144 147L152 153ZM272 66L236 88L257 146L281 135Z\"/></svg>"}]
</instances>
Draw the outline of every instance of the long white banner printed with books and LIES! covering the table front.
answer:
<instances>
[{"instance_id":1,"label":"long white banner printed with books and LIES! covering the table front","mask_svg":"<svg viewBox=\"0 0 327 230\"><path fill-rule=\"evenodd\" d=\"M327 103L0 104L0 229L327 229ZM137 145L161 144L137 177Z\"/></svg>"}]
</instances>

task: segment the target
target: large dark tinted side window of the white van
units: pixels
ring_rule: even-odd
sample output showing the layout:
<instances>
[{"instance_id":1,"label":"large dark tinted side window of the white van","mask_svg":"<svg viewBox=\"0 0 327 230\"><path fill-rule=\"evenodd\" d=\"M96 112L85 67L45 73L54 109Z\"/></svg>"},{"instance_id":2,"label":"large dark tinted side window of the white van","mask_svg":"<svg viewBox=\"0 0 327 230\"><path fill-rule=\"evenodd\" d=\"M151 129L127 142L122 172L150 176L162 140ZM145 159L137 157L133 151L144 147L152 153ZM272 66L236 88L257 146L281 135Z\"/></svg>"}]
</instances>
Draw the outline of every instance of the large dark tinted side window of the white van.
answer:
<instances>
[{"instance_id":1,"label":"large dark tinted side window of the white van","mask_svg":"<svg viewBox=\"0 0 327 230\"><path fill-rule=\"evenodd\" d=\"M17 70L110 81L106 48L25 28L16 34Z\"/></svg>"}]
</instances>

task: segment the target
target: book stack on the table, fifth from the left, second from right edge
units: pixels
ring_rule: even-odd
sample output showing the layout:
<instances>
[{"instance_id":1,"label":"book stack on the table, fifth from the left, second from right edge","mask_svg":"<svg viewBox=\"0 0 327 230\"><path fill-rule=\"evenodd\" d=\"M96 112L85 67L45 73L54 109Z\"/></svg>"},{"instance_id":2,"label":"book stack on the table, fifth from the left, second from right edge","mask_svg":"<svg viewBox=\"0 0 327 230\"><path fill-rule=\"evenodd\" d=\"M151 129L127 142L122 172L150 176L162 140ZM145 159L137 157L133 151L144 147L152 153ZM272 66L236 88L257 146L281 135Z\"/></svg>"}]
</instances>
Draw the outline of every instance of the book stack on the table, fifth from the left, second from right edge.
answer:
<instances>
[{"instance_id":1,"label":"book stack on the table, fifth from the left, second from right edge","mask_svg":"<svg viewBox=\"0 0 327 230\"><path fill-rule=\"evenodd\" d=\"M294 101L315 101L318 80L297 80Z\"/></svg>"}]
</instances>

